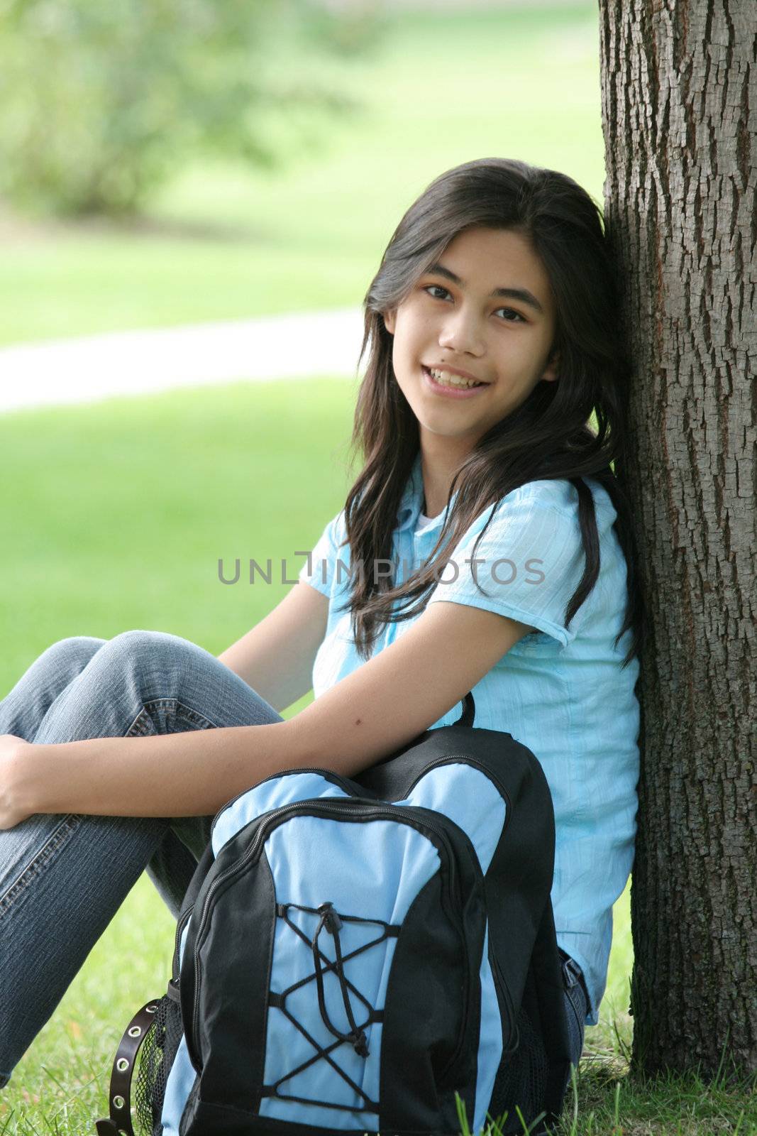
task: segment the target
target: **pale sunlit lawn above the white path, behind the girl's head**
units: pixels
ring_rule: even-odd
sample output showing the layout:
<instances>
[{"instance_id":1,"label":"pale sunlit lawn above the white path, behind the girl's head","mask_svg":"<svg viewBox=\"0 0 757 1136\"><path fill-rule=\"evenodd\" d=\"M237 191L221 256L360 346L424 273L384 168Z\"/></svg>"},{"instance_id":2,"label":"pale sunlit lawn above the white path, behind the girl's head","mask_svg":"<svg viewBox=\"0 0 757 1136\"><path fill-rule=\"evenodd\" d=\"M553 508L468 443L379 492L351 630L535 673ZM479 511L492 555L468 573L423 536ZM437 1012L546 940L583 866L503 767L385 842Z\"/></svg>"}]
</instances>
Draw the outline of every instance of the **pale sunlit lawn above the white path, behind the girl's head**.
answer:
<instances>
[{"instance_id":1,"label":"pale sunlit lawn above the white path, behind the girl's head","mask_svg":"<svg viewBox=\"0 0 757 1136\"><path fill-rule=\"evenodd\" d=\"M279 66L280 60L272 60ZM312 66L287 56L287 74ZM602 199L596 6L403 14L368 58L320 65L362 110L267 125L275 173L203 160L135 227L5 234L0 343L358 306L397 222L443 170L503 156Z\"/></svg>"}]
</instances>

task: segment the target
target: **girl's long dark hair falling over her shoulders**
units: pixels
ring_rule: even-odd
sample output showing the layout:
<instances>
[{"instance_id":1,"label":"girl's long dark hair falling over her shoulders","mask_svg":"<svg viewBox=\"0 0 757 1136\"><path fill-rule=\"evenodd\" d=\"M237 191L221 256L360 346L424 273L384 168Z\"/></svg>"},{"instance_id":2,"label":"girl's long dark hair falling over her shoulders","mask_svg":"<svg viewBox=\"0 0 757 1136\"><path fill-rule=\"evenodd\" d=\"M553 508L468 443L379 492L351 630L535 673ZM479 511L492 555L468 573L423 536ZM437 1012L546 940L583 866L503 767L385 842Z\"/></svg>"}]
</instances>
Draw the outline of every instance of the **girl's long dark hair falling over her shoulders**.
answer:
<instances>
[{"instance_id":1,"label":"girl's long dark hair falling over her shoulders","mask_svg":"<svg viewBox=\"0 0 757 1136\"><path fill-rule=\"evenodd\" d=\"M457 234L479 226L518 231L540 257L556 308L553 353L560 353L560 377L537 383L520 407L479 438L449 487L444 525L426 565L399 586L386 576L376 579L372 571L353 570L350 599L340 610L352 610L355 649L368 659L386 624L412 619L424 609L456 543L486 508L527 482L567 478L578 491L584 552L583 575L565 611L570 624L599 575L594 499L583 481L590 476L615 507L614 527L628 566L625 619L615 640L617 646L624 632L633 633L625 667L641 648L644 611L630 508L611 462L623 460L626 445L630 366L619 336L599 207L565 174L503 158L469 161L437 177L399 222L363 301L360 358L369 343L370 351L351 441L363 468L345 503L344 543L352 565L393 559L399 502L420 446L418 420L394 375L382 312L407 296ZM592 412L596 431L589 424Z\"/></svg>"}]
</instances>

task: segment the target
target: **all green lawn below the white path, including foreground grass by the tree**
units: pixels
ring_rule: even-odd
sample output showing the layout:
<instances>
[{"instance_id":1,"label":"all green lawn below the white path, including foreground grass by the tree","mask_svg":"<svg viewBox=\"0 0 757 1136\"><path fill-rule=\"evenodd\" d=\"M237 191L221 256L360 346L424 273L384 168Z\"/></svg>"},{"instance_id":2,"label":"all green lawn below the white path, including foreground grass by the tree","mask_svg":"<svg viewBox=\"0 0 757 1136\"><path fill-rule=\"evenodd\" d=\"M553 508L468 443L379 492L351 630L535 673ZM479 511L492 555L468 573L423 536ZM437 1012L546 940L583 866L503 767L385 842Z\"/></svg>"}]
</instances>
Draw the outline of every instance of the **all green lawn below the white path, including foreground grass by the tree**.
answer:
<instances>
[{"instance_id":1,"label":"all green lawn below the white path, including foreground grass by the tree","mask_svg":"<svg viewBox=\"0 0 757 1136\"><path fill-rule=\"evenodd\" d=\"M286 585L224 586L218 558L261 561L312 548L344 503L353 403L353 384L321 379L0 416L0 696L68 635L151 628L213 654L238 638ZM578 1120L569 1106L560 1136L754 1136L757 1105L746 1092L626 1076L629 888L614 917L600 1022L587 1029L578 1077ZM0 1093L0 1136L92 1131L124 1026L165 989L173 933L143 876Z\"/></svg>"}]
</instances>

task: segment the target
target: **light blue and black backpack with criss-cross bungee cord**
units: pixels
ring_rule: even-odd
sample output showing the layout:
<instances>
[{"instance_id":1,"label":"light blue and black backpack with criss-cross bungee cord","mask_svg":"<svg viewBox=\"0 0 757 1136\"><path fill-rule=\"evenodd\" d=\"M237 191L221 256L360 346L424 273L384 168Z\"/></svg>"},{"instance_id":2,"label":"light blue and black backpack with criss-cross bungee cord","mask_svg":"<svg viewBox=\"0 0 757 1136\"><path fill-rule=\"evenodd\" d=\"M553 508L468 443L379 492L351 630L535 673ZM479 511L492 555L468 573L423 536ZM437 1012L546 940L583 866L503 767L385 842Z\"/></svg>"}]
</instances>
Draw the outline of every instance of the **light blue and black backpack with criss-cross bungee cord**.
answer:
<instances>
[{"instance_id":1,"label":"light blue and black backpack with criss-cross bungee cord","mask_svg":"<svg viewBox=\"0 0 757 1136\"><path fill-rule=\"evenodd\" d=\"M287 770L217 813L167 993L124 1034L100 1136L133 1136L137 1064L151 1136L557 1119L552 795L530 750L473 718L468 694L454 725L353 778Z\"/></svg>"}]
</instances>

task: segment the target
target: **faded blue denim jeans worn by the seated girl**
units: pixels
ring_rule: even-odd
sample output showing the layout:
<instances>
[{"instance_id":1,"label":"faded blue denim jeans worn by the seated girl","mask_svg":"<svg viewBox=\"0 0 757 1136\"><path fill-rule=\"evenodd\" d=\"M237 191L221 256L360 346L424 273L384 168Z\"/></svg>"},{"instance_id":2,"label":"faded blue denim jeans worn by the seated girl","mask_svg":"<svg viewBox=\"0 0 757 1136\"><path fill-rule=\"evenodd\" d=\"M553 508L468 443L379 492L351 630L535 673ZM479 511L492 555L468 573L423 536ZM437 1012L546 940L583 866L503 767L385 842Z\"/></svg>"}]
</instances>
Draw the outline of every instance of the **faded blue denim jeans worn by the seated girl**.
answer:
<instances>
[{"instance_id":1,"label":"faded blue denim jeans worn by the seated girl","mask_svg":"<svg viewBox=\"0 0 757 1136\"><path fill-rule=\"evenodd\" d=\"M281 720L203 648L145 630L53 643L0 702L0 734L48 744ZM0 832L0 1087L143 870L178 914L211 821L35 813ZM572 977L578 1066L586 1004Z\"/></svg>"}]
</instances>

